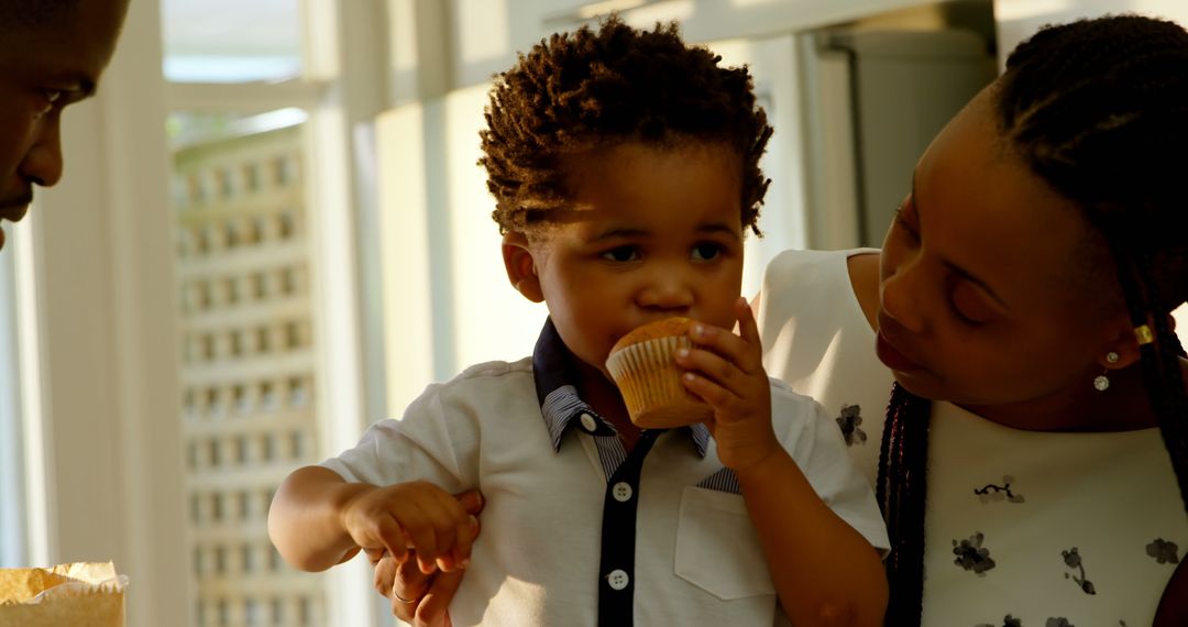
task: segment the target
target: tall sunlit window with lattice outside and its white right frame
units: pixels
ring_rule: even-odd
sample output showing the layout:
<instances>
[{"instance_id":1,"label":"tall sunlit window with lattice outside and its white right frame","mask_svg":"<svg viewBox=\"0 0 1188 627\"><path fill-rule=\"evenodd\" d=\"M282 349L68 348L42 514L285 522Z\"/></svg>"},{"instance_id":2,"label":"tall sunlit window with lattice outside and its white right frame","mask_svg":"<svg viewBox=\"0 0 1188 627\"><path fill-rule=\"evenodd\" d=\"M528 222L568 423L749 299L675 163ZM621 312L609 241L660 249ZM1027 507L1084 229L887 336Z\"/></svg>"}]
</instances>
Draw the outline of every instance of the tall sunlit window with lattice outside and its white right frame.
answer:
<instances>
[{"instance_id":1,"label":"tall sunlit window with lattice outside and its white right frame","mask_svg":"<svg viewBox=\"0 0 1188 627\"><path fill-rule=\"evenodd\" d=\"M381 103L341 96L346 82L372 81L352 72L375 65L346 63L327 42L343 20L385 23L355 13L380 6L163 0L177 414L190 451L190 615L198 627L341 620L328 615L331 578L284 564L266 517L291 470L346 445L327 442L334 430L323 423L352 443L362 426L361 376L328 363L358 361L359 343L342 330L355 327L354 297L335 290L356 280L350 172L373 170L366 153L350 150L348 128L356 128L346 122L369 124ZM318 277L331 287L316 291ZM350 385L328 381L328 372L348 373ZM358 597L341 604L368 606L368 582L360 578Z\"/></svg>"}]
</instances>

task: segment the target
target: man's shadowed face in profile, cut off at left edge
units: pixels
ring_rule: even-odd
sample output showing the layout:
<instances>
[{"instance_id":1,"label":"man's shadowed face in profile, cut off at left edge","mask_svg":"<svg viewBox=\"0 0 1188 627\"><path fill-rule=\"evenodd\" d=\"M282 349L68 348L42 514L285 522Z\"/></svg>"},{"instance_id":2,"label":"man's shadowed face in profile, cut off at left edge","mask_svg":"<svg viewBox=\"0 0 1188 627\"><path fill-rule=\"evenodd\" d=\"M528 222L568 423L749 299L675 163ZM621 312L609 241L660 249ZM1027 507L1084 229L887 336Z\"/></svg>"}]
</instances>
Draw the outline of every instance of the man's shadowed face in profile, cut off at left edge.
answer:
<instances>
[{"instance_id":1,"label":"man's shadowed face in profile, cut off at left edge","mask_svg":"<svg viewBox=\"0 0 1188 627\"><path fill-rule=\"evenodd\" d=\"M33 185L62 177L62 109L95 91L127 6L128 0L0 2L0 220L24 217Z\"/></svg>"}]
</instances>

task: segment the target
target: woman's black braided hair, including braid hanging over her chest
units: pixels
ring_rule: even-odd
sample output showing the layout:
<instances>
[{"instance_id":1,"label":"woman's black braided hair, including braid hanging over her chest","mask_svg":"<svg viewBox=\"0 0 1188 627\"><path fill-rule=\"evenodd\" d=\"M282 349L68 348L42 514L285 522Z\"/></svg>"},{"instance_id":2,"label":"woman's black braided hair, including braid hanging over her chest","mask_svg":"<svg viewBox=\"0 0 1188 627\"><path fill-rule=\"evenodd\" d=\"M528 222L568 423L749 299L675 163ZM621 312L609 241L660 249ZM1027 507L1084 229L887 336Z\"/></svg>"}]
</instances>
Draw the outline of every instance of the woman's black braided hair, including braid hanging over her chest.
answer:
<instances>
[{"instance_id":1,"label":"woman's black braided hair, including braid hanging over her chest","mask_svg":"<svg viewBox=\"0 0 1188 627\"><path fill-rule=\"evenodd\" d=\"M1111 15L1041 30L994 91L1010 150L1074 201L1107 243L1142 346L1142 372L1188 506L1188 400L1168 314L1188 298L1188 32ZM895 386L877 493L891 533L887 625L918 625L931 404Z\"/></svg>"}]
</instances>

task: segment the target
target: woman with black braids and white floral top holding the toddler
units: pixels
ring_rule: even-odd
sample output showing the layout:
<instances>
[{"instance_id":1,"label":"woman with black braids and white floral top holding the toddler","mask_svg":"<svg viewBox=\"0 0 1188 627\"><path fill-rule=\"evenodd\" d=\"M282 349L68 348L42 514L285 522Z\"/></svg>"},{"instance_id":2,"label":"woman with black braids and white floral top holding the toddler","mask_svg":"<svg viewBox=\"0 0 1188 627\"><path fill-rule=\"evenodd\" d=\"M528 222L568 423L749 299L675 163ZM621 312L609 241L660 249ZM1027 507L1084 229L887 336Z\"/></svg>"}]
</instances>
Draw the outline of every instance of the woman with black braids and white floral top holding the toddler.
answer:
<instances>
[{"instance_id":1,"label":"woman with black braids and white floral top holding the toddler","mask_svg":"<svg viewBox=\"0 0 1188 627\"><path fill-rule=\"evenodd\" d=\"M929 147L880 254L769 267L765 366L878 487L887 625L1151 625L1161 597L1188 621L1183 146L1188 33L1048 28ZM393 608L438 620L453 585Z\"/></svg>"}]
</instances>

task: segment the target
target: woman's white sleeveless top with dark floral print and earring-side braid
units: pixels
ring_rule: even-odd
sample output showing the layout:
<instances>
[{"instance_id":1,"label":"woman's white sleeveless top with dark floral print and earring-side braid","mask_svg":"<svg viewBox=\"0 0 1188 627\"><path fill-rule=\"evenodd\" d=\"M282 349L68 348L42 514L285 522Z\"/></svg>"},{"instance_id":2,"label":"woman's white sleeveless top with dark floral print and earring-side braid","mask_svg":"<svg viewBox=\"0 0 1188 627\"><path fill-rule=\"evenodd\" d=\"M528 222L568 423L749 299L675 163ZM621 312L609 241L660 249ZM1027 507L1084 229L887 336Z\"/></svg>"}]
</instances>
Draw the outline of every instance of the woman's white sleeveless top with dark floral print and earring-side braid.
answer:
<instances>
[{"instance_id":1,"label":"woman's white sleeveless top with dark floral print and earring-side braid","mask_svg":"<svg viewBox=\"0 0 1188 627\"><path fill-rule=\"evenodd\" d=\"M891 373L846 259L788 252L759 302L772 376L836 412L873 482ZM936 403L929 432L925 627L1146 626L1188 546L1157 429L1050 433Z\"/></svg>"}]
</instances>

